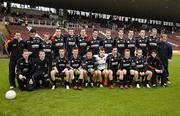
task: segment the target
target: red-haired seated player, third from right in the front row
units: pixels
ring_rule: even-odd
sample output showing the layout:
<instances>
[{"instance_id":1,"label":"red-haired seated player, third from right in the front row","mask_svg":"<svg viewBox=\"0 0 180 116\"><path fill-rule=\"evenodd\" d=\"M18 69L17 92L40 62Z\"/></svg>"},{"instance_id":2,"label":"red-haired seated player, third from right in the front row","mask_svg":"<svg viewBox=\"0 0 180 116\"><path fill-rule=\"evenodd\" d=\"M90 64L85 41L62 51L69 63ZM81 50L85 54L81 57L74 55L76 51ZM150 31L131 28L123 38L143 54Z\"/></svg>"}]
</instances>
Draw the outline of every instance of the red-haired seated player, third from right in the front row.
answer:
<instances>
[{"instance_id":1,"label":"red-haired seated player, third from right in the front row","mask_svg":"<svg viewBox=\"0 0 180 116\"><path fill-rule=\"evenodd\" d=\"M137 78L138 73L133 69L134 67L134 59L130 57L130 50L125 49L124 57L121 61L121 71L123 71L123 81L120 85L120 88L132 88L133 77Z\"/></svg>"}]
</instances>

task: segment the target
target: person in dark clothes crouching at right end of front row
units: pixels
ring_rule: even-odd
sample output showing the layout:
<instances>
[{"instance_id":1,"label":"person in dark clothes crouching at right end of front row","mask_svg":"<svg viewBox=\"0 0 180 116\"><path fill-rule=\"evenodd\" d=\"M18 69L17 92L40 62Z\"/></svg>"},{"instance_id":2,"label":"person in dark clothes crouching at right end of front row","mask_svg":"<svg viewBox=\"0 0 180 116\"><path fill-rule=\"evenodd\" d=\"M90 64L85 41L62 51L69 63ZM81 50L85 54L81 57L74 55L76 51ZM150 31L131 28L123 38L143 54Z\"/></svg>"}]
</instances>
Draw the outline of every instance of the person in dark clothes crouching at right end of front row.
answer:
<instances>
[{"instance_id":1,"label":"person in dark clothes crouching at right end of front row","mask_svg":"<svg viewBox=\"0 0 180 116\"><path fill-rule=\"evenodd\" d=\"M151 56L148 58L148 68L153 72L152 76L152 85L153 87L157 86L158 79L161 79L161 86L166 87L166 78L164 75L164 67L161 60L157 57L157 52L152 51ZM159 77L157 79L157 77Z\"/></svg>"}]
</instances>

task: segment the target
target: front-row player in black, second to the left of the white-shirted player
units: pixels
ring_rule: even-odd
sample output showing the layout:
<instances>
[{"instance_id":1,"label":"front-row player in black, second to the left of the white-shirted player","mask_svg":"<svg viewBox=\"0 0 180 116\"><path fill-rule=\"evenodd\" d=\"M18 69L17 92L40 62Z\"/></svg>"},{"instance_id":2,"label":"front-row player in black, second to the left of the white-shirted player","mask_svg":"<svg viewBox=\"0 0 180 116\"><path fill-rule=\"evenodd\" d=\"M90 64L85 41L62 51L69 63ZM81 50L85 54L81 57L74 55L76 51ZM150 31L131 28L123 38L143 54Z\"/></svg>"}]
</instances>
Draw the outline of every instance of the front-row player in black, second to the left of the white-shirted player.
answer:
<instances>
[{"instance_id":1,"label":"front-row player in black, second to the left of the white-shirted player","mask_svg":"<svg viewBox=\"0 0 180 116\"><path fill-rule=\"evenodd\" d=\"M82 69L81 64L82 62L78 54L78 48L75 47L72 49L72 58L70 59L70 70L69 70L69 76L75 90L82 89L84 71Z\"/></svg>"}]
</instances>

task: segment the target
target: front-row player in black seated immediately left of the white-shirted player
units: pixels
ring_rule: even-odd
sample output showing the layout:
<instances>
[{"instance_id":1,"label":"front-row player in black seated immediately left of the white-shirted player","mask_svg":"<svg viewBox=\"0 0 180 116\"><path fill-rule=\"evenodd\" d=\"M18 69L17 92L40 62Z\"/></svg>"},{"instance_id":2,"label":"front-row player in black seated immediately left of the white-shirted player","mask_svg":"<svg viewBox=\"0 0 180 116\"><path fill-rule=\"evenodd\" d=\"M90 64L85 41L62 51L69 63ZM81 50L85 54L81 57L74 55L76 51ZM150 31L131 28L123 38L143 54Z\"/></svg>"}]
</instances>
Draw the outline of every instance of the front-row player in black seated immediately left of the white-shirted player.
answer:
<instances>
[{"instance_id":1,"label":"front-row player in black seated immediately left of the white-shirted player","mask_svg":"<svg viewBox=\"0 0 180 116\"><path fill-rule=\"evenodd\" d=\"M95 69L97 68L95 58L93 57L92 50L87 50L86 58L83 60L83 69L85 77L85 87L90 84L91 87L94 86L95 80ZM89 78L88 78L89 77Z\"/></svg>"}]
</instances>

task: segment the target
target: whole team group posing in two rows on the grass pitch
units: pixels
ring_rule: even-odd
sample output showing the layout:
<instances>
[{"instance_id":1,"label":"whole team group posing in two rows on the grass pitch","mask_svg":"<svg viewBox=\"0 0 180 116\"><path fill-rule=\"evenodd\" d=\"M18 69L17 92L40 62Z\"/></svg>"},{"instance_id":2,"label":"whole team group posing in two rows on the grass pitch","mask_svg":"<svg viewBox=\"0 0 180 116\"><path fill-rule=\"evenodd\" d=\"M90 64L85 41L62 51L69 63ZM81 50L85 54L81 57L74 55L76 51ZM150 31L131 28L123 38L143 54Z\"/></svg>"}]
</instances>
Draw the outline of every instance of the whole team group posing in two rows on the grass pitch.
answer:
<instances>
[{"instance_id":1,"label":"whole team group posing in two rows on the grass pitch","mask_svg":"<svg viewBox=\"0 0 180 116\"><path fill-rule=\"evenodd\" d=\"M7 44L10 89L155 88L170 83L172 46L167 34L159 35L156 28L148 34L139 30L138 36L119 29L115 38L109 29L103 36L97 29L88 36L86 29L78 34L73 28L66 31L56 28L53 35L44 32L42 38L35 29L29 38L14 33Z\"/></svg>"}]
</instances>

